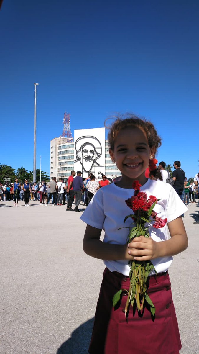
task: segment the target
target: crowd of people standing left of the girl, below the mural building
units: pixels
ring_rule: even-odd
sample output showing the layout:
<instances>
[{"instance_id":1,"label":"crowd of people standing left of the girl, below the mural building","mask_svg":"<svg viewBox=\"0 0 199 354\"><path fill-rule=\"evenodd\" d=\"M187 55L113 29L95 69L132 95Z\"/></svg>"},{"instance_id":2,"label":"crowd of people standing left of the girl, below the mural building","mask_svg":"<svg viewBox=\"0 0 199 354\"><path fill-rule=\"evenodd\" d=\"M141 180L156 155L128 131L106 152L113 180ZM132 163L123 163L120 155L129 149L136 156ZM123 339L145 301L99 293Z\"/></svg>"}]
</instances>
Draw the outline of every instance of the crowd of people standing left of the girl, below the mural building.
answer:
<instances>
[{"instance_id":1,"label":"crowd of people standing left of the girl, below the mural building","mask_svg":"<svg viewBox=\"0 0 199 354\"><path fill-rule=\"evenodd\" d=\"M74 177L75 181L73 182ZM56 177L53 177L52 181L47 183L45 181L29 183L28 179L21 183L16 178L13 183L0 183L0 201L13 200L14 206L17 207L19 200L24 201L25 206L29 206L30 200L39 201L40 205L49 205L52 200L52 206L67 204L67 210L72 210L75 200L73 210L79 211L80 202L87 206L97 190L109 183L105 175L102 175L100 181L96 180L92 173L82 179L81 171L77 171L76 174L74 170L67 181L62 178L57 181Z\"/></svg>"}]
</instances>

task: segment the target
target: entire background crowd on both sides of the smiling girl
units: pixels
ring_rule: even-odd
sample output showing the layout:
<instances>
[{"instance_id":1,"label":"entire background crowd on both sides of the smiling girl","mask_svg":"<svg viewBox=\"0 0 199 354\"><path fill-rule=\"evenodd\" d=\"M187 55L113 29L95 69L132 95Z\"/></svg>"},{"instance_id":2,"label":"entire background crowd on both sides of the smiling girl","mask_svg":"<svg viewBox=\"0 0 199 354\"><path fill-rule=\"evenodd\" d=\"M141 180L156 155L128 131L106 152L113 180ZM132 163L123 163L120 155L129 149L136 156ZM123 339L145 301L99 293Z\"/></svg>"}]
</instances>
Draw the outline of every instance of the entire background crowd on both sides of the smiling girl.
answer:
<instances>
[{"instance_id":1,"label":"entire background crowd on both sides of the smiling girl","mask_svg":"<svg viewBox=\"0 0 199 354\"><path fill-rule=\"evenodd\" d=\"M177 169L179 169L180 161L176 163L179 165L176 165ZM166 163L164 161L159 162L155 177L151 176L150 178L166 183L167 178L170 177L170 172L167 171L165 167ZM183 170L180 168L180 171ZM18 201L21 200L24 201L25 206L29 206L29 200L40 201L40 205L49 205L50 199L52 199L52 206L67 205L67 211L78 212L80 203L87 206L99 188L112 183L112 179L108 180L106 175L103 174L100 181L96 179L92 173L89 173L87 178L82 178L81 174L81 171L77 171L76 173L72 170L70 177L66 181L64 181L63 178L59 178L57 181L56 177L53 177L52 181L47 183L45 181L29 183L28 179L25 179L22 184L18 181L18 178L16 178L14 183L0 183L0 201L13 200L14 206L18 206ZM173 176L174 175L175 171L173 173ZM116 180L118 181L120 178L121 177L117 177ZM113 181L115 182L115 179ZM195 175L194 181L191 183L187 181L187 177L183 178L183 189L180 187L181 193L179 195L185 205L189 205L189 202L199 203L198 185L199 173ZM174 189L176 189L175 187L174 183ZM178 193L178 186L176 191ZM74 201L75 208L72 209Z\"/></svg>"}]
</instances>

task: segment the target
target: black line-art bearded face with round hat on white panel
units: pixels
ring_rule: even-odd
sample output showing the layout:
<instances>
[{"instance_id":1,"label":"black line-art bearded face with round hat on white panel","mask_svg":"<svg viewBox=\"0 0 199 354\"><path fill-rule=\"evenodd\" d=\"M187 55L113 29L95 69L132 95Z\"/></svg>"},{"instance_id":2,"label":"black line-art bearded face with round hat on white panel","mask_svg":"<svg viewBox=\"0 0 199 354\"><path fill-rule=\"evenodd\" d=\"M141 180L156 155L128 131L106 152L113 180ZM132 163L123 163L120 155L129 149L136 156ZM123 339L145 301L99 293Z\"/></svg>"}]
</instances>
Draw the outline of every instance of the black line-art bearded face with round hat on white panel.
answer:
<instances>
[{"instance_id":1,"label":"black line-art bearded face with round hat on white panel","mask_svg":"<svg viewBox=\"0 0 199 354\"><path fill-rule=\"evenodd\" d=\"M85 172L90 172L96 160L102 155L102 145L94 136L82 136L75 142L76 161L79 161Z\"/></svg>"}]
</instances>

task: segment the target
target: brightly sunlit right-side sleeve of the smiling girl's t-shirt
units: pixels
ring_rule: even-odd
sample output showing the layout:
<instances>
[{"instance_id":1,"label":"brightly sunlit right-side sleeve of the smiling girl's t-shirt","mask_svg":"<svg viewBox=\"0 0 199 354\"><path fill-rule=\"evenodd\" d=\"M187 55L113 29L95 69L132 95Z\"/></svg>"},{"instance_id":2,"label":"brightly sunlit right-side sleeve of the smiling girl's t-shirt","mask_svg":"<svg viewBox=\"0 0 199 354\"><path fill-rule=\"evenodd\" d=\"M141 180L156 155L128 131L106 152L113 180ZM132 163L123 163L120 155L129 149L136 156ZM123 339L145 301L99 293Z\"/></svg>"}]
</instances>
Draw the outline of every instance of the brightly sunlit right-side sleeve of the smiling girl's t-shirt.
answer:
<instances>
[{"instance_id":1,"label":"brightly sunlit right-side sleeve of the smiling girl's t-shirt","mask_svg":"<svg viewBox=\"0 0 199 354\"><path fill-rule=\"evenodd\" d=\"M169 197L167 198L167 203L165 205L165 214L167 218L167 223L175 220L187 210L188 210L187 207L184 205L183 201L176 193L175 189L172 186L170 186Z\"/></svg>"}]
</instances>

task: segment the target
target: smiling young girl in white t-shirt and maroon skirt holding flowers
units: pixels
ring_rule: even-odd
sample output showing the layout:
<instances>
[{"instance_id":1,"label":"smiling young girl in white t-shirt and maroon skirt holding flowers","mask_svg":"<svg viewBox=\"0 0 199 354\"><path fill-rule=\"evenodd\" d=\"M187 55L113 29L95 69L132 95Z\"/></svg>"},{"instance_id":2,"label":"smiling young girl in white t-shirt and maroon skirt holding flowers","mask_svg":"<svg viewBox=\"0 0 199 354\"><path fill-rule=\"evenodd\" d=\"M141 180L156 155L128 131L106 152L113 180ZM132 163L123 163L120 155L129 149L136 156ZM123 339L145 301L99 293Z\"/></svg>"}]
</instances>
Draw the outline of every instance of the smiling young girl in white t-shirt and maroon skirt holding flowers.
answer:
<instances>
[{"instance_id":1,"label":"smiling young girl in white t-shirt and maroon skirt holding flowers","mask_svg":"<svg viewBox=\"0 0 199 354\"><path fill-rule=\"evenodd\" d=\"M161 139L153 124L136 116L118 118L108 134L109 153L121 171L121 179L100 188L81 219L87 223L83 249L95 258L104 259L106 268L99 293L95 322L89 348L90 354L178 354L181 341L172 301L168 268L172 256L188 246L181 215L187 210L174 188L145 177ZM150 161L150 162L149 162ZM153 172L153 178L155 171ZM132 227L131 213L125 200L134 194L133 181L138 180L147 196L160 199L154 207L158 216L167 218L161 229L149 225L150 238L140 236L127 245ZM125 227L125 228L124 228ZM102 229L103 242L99 239ZM169 233L171 238L169 238ZM144 308L142 316L130 306L128 320L124 308L129 290L128 262L151 260L158 276L148 277L150 299L155 306L155 319ZM122 290L121 302L112 305L114 294Z\"/></svg>"}]
</instances>

